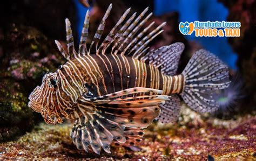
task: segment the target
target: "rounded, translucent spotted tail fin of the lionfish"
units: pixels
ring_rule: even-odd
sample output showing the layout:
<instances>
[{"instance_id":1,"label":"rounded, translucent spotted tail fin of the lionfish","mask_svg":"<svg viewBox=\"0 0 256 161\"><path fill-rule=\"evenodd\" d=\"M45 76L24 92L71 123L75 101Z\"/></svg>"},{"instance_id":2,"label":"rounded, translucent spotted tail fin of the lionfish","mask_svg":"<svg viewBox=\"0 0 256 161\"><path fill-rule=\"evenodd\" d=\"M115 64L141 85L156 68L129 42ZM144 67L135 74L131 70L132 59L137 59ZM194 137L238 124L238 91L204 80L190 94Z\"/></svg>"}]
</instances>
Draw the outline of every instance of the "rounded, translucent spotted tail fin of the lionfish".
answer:
<instances>
[{"instance_id":1,"label":"rounded, translucent spotted tail fin of the lionfish","mask_svg":"<svg viewBox=\"0 0 256 161\"><path fill-rule=\"evenodd\" d=\"M213 93L227 88L230 80L227 66L218 57L206 50L199 50L182 74L185 87L181 96L188 106L200 113L211 113L219 108Z\"/></svg>"}]
</instances>

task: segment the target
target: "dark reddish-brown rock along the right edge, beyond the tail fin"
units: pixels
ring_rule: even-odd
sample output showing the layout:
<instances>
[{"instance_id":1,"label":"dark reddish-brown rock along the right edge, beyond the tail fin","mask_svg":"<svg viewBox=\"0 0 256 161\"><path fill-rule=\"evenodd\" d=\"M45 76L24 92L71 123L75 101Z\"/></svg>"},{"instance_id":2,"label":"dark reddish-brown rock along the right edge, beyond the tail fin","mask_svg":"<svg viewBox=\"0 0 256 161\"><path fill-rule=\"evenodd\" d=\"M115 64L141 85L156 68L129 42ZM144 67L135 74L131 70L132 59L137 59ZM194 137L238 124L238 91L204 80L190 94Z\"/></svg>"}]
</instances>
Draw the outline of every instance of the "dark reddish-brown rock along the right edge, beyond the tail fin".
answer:
<instances>
[{"instance_id":1,"label":"dark reddish-brown rock along the right edge, beyond the tail fin","mask_svg":"<svg viewBox=\"0 0 256 161\"><path fill-rule=\"evenodd\" d=\"M220 0L229 10L227 20L240 22L240 37L228 41L238 54L237 65L245 81L245 99L240 112L251 113L256 109L256 1Z\"/></svg>"}]
</instances>

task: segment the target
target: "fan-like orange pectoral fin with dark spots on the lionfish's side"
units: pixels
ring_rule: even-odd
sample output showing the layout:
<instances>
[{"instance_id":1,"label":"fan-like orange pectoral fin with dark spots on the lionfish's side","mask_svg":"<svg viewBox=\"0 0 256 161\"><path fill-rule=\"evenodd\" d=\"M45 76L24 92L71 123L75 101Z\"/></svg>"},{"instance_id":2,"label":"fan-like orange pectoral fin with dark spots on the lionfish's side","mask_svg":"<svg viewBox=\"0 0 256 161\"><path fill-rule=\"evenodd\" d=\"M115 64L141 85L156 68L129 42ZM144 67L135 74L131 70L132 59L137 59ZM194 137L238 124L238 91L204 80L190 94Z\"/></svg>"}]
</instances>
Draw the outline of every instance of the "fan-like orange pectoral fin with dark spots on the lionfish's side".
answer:
<instances>
[{"instance_id":1,"label":"fan-like orange pectoral fin with dark spots on the lionfish's side","mask_svg":"<svg viewBox=\"0 0 256 161\"><path fill-rule=\"evenodd\" d=\"M130 97L133 94L140 94ZM160 113L159 104L169 96L159 95L161 90L130 88L103 96L86 98L78 102L76 123L70 137L78 149L101 149L110 153L110 145L134 146Z\"/></svg>"}]
</instances>

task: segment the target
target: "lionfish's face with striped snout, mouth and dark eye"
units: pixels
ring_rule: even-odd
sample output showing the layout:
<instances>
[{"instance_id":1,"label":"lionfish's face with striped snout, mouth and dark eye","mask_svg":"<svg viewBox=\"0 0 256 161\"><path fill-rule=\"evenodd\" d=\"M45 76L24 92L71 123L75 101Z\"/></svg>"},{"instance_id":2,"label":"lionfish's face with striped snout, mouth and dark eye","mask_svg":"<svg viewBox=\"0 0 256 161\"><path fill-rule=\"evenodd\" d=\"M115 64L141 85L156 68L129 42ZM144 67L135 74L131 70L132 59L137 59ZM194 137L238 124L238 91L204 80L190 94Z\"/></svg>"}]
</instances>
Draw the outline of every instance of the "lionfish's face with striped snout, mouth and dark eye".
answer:
<instances>
[{"instance_id":1,"label":"lionfish's face with striped snout, mouth and dark eye","mask_svg":"<svg viewBox=\"0 0 256 161\"><path fill-rule=\"evenodd\" d=\"M43 76L42 85L37 86L29 95L28 107L37 113L41 113L47 124L62 123L55 104L56 90L59 87L59 79L56 73L46 73Z\"/></svg>"}]
</instances>

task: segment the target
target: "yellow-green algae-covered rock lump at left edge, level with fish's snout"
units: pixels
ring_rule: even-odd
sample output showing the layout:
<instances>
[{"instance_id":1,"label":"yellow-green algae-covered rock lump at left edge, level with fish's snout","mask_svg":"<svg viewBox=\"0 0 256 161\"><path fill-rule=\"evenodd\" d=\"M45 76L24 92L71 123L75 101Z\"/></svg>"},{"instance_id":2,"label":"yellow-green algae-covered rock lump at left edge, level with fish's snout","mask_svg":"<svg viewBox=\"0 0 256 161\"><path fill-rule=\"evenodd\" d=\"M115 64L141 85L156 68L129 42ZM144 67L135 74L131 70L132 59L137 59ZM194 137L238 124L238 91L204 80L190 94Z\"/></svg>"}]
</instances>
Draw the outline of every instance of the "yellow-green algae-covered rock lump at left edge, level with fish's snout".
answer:
<instances>
[{"instance_id":1,"label":"yellow-green algae-covered rock lump at left edge, level with fish's snout","mask_svg":"<svg viewBox=\"0 0 256 161\"><path fill-rule=\"evenodd\" d=\"M33 124L32 111L26 107L26 96L19 83L10 79L0 82L0 142L29 130Z\"/></svg>"}]
</instances>

